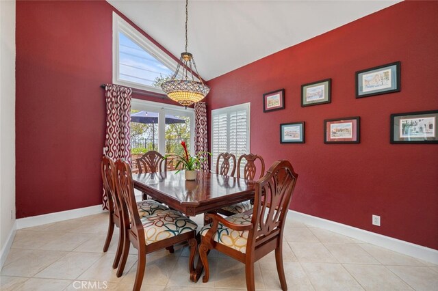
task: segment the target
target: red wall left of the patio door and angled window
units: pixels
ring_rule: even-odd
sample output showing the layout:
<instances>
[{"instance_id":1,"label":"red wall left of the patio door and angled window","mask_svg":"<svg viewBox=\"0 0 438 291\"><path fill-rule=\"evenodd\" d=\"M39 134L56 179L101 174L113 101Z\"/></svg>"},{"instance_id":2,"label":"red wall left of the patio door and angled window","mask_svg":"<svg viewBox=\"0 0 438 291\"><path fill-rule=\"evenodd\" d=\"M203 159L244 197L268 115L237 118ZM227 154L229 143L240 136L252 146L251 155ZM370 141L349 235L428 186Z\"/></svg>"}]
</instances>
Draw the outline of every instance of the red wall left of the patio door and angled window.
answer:
<instances>
[{"instance_id":1,"label":"red wall left of the patio door and angled window","mask_svg":"<svg viewBox=\"0 0 438 291\"><path fill-rule=\"evenodd\" d=\"M106 1L16 2L17 218L101 203L113 11Z\"/></svg>"}]
</instances>

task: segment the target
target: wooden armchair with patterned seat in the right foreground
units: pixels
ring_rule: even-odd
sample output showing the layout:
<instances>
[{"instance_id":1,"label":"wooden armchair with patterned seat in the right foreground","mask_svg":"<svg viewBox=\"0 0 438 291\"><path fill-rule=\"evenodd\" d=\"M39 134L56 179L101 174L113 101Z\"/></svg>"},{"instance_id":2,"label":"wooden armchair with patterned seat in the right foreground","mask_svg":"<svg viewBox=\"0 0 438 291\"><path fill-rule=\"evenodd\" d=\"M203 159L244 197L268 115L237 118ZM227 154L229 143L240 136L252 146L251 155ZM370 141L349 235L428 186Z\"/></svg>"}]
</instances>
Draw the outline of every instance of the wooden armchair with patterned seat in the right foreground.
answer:
<instances>
[{"instance_id":1,"label":"wooden armchair with patterned seat in the right foreground","mask_svg":"<svg viewBox=\"0 0 438 291\"><path fill-rule=\"evenodd\" d=\"M201 229L199 256L205 269L203 282L209 279L207 253L216 249L245 264L246 288L255 290L254 263L275 251L281 289L287 290L283 268L283 230L298 174L289 161L275 161L255 184L252 214L221 217L205 214L211 223Z\"/></svg>"}]
</instances>

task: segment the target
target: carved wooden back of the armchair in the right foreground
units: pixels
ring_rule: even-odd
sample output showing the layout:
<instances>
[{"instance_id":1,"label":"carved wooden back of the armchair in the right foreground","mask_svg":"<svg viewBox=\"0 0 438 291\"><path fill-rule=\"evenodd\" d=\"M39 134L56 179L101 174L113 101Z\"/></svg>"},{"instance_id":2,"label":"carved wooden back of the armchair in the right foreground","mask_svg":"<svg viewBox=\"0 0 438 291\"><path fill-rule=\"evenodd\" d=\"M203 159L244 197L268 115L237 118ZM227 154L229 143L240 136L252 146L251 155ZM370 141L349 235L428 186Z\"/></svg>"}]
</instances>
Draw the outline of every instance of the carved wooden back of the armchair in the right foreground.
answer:
<instances>
[{"instance_id":1,"label":"carved wooden back of the armchair in the right foreground","mask_svg":"<svg viewBox=\"0 0 438 291\"><path fill-rule=\"evenodd\" d=\"M285 217L297 178L298 174L289 161L275 161L266 175L257 181L251 221L254 227L248 234L247 254L248 250L257 253L258 247L270 252L272 249L264 248L264 244L272 240L282 241Z\"/></svg>"}]
</instances>

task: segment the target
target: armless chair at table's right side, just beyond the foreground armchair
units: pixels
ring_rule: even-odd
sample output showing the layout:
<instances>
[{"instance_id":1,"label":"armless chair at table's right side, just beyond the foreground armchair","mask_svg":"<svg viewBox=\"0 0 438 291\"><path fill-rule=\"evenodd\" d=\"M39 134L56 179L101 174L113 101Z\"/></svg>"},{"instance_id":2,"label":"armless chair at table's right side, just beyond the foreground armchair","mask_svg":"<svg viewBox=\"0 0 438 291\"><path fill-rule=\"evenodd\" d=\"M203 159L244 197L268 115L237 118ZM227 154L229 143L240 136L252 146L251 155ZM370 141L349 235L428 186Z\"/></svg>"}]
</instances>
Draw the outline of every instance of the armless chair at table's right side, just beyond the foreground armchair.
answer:
<instances>
[{"instance_id":1,"label":"armless chair at table's right side, just beyond the foreground armchair","mask_svg":"<svg viewBox=\"0 0 438 291\"><path fill-rule=\"evenodd\" d=\"M241 165L244 161L246 161L243 169L244 174L243 176L241 176ZM257 167L256 165L259 165L259 167ZM263 175L265 174L265 161L263 161L263 158L260 155L242 154L242 156L240 156L237 160L237 179L244 178L246 180L254 180L257 174L257 168L259 171L259 175L257 178L263 177ZM218 212L226 216L248 212L253 209L253 204L254 199L251 199L237 204L222 207L220 210L218 210Z\"/></svg>"}]
</instances>

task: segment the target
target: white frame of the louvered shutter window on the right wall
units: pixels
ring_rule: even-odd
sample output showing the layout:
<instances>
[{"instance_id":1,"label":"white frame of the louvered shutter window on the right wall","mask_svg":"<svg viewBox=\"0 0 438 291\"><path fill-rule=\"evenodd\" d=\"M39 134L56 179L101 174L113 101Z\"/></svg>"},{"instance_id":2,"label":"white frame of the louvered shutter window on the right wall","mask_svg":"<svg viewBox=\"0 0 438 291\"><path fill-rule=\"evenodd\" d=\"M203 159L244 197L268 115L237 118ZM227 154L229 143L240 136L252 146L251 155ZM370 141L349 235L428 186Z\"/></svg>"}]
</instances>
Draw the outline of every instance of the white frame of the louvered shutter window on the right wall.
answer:
<instances>
[{"instance_id":1,"label":"white frame of the louvered shutter window on the right wall","mask_svg":"<svg viewBox=\"0 0 438 291\"><path fill-rule=\"evenodd\" d=\"M213 147L214 147L214 140L213 140L213 136L214 136L214 131L213 131L213 127L214 127L214 115L220 115L220 114L224 114L227 113L227 152L229 152L230 150L230 138L229 138L229 129L230 129L230 114L235 112L235 111L242 111L242 110L246 110L246 154L250 153L250 124L251 124L251 103L250 102L246 102L246 103L242 103L239 105L232 105L229 107L222 107L222 108L218 108L218 109L213 109L211 110L211 130L210 130L210 141L211 141L211 148L210 148L210 152L211 152L211 172L216 171L216 160L217 160L217 156L214 156L214 152L213 152ZM233 154L233 153L231 153ZM237 156L236 156L236 161L237 161Z\"/></svg>"}]
</instances>

